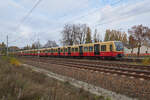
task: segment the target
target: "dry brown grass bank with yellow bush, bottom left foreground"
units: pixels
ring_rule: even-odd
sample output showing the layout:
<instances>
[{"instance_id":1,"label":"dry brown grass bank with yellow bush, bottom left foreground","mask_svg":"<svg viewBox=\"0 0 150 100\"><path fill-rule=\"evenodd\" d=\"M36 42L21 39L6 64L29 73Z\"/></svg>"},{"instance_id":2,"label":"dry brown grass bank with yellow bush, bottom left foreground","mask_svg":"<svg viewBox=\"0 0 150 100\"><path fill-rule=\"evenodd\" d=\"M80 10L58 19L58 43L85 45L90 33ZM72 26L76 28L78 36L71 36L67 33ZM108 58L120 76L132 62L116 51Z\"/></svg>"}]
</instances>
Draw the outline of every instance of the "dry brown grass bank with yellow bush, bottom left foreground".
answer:
<instances>
[{"instance_id":1,"label":"dry brown grass bank with yellow bush, bottom left foreground","mask_svg":"<svg viewBox=\"0 0 150 100\"><path fill-rule=\"evenodd\" d=\"M82 89L20 66L15 58L0 59L0 100L104 100Z\"/></svg>"}]
</instances>

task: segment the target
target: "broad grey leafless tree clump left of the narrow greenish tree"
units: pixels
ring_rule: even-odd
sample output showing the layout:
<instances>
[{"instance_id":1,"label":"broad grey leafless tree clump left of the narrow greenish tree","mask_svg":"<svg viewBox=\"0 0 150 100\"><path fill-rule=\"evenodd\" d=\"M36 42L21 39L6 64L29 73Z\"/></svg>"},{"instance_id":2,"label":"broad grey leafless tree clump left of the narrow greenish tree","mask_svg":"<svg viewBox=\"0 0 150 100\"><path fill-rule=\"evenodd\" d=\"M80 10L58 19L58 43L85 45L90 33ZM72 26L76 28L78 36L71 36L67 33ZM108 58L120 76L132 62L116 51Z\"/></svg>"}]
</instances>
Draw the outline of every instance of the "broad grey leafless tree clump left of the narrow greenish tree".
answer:
<instances>
[{"instance_id":1,"label":"broad grey leafless tree clump left of the narrow greenish tree","mask_svg":"<svg viewBox=\"0 0 150 100\"><path fill-rule=\"evenodd\" d=\"M67 24L64 26L61 42L63 45L84 44L88 27L86 24Z\"/></svg>"}]
</instances>

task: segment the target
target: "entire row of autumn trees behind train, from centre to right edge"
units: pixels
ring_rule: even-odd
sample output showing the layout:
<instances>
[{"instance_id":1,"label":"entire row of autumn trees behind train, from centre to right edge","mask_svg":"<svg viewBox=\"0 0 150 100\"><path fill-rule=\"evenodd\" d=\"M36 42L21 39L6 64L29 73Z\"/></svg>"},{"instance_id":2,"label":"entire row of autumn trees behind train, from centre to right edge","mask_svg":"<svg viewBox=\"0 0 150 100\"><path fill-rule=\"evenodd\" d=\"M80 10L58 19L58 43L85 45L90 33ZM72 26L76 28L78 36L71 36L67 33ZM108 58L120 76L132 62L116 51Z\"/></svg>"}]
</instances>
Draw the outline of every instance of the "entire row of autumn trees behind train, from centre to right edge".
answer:
<instances>
[{"instance_id":1,"label":"entire row of autumn trees behind train, from centre to right edge","mask_svg":"<svg viewBox=\"0 0 150 100\"><path fill-rule=\"evenodd\" d=\"M102 41L97 29L92 37L92 30L86 24L66 24L61 32L61 43L66 45L86 44ZM129 49L138 48L138 55L142 45L150 46L150 28L135 25L126 32L107 29L103 41L122 41Z\"/></svg>"}]
</instances>

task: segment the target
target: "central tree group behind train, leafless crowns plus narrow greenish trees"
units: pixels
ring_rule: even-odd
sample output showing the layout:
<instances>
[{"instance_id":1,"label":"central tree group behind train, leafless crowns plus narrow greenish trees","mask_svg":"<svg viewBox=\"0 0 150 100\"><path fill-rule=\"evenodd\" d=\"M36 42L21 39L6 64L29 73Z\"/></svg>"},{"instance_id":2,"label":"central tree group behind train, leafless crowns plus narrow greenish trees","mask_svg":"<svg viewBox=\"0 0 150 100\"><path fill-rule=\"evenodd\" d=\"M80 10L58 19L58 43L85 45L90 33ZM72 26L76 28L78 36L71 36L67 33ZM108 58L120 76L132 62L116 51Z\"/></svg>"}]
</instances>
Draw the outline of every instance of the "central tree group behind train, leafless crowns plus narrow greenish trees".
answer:
<instances>
[{"instance_id":1,"label":"central tree group behind train, leafless crowns plus narrow greenish trees","mask_svg":"<svg viewBox=\"0 0 150 100\"><path fill-rule=\"evenodd\" d=\"M101 41L97 30L95 30L94 39L92 39L91 31L91 28L86 24L66 24L61 32L61 43L66 46Z\"/></svg>"}]
</instances>

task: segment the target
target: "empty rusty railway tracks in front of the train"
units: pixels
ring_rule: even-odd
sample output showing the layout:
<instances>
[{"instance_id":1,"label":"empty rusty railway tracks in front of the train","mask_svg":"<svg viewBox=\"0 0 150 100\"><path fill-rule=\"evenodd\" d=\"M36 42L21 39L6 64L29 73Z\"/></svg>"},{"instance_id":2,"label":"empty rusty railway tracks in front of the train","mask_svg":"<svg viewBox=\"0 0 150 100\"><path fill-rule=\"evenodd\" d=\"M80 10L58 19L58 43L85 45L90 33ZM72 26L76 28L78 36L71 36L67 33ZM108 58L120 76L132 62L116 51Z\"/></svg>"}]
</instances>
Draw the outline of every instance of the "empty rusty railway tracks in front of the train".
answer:
<instances>
[{"instance_id":1,"label":"empty rusty railway tracks in front of the train","mask_svg":"<svg viewBox=\"0 0 150 100\"><path fill-rule=\"evenodd\" d=\"M77 61L77 60L70 60L70 59L50 59L50 58L30 58L30 60L41 62L41 63L47 63L47 64L56 64L56 65L62 65L69 68L78 68L78 69L84 69L84 70L91 70L96 72L102 72L102 73L109 73L114 75L120 75L120 76L127 76L130 78L139 78L139 79L145 79L150 80L150 67L149 66L133 66L133 65L122 65L119 64L106 64L102 62L87 62L87 61Z\"/></svg>"}]
</instances>

